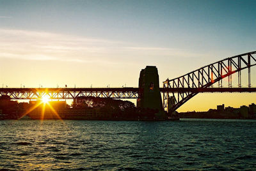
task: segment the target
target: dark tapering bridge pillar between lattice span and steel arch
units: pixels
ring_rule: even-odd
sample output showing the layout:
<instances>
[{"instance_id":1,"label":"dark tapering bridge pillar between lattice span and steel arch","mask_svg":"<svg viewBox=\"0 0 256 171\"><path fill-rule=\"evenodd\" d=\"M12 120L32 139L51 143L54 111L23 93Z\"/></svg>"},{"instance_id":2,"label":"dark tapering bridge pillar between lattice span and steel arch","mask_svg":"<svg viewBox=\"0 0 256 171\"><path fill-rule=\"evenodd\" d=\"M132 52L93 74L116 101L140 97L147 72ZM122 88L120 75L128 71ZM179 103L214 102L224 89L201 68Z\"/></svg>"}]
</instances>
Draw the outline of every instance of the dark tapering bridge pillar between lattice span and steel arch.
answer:
<instances>
[{"instance_id":1,"label":"dark tapering bridge pillar between lattice span and steel arch","mask_svg":"<svg viewBox=\"0 0 256 171\"><path fill-rule=\"evenodd\" d=\"M163 112L156 66L147 66L140 71L137 107L157 109L159 112Z\"/></svg>"}]
</instances>

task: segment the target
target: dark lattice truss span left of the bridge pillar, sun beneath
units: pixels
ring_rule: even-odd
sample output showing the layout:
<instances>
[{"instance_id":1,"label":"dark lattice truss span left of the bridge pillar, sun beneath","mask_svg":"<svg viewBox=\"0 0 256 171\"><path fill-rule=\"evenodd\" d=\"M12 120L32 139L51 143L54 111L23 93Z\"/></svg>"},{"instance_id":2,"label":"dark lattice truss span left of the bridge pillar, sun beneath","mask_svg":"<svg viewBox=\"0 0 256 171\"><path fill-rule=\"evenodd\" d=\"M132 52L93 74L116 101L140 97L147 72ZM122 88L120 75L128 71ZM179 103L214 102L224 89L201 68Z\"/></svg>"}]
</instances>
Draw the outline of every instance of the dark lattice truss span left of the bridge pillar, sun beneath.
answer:
<instances>
[{"instance_id":1,"label":"dark lattice truss span left of the bridge pillar, sun beneath","mask_svg":"<svg viewBox=\"0 0 256 171\"><path fill-rule=\"evenodd\" d=\"M136 99L138 88L1 88L1 95L8 95L12 100L32 100L47 97L52 100L75 99L79 96L100 98Z\"/></svg>"}]
</instances>

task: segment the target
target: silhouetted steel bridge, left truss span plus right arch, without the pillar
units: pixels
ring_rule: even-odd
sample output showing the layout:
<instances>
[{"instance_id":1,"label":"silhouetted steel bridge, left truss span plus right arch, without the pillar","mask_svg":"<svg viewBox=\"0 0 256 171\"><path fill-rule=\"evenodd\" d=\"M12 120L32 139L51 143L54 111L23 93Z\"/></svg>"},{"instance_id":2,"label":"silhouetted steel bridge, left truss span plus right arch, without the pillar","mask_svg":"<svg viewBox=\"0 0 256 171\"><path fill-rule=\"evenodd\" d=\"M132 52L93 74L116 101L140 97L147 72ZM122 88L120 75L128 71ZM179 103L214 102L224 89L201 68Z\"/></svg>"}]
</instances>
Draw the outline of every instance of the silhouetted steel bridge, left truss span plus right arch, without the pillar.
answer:
<instances>
[{"instance_id":1,"label":"silhouetted steel bridge, left truss span plus right arch, without the pillar","mask_svg":"<svg viewBox=\"0 0 256 171\"><path fill-rule=\"evenodd\" d=\"M216 63L209 64L198 70L191 71L181 77L167 79L163 87L156 88L163 94L163 108L174 112L198 93L255 93L256 87L251 86L250 68L256 65L255 52L248 52L234 57L228 57ZM248 69L248 87L242 87L241 71ZM238 86L232 85L232 75L237 73ZM157 74L158 78L158 74ZM223 87L223 78L228 78L228 87ZM159 80L158 80L159 81ZM159 82L155 82L159 85ZM218 83L216 87L213 84ZM154 83L150 83L153 84ZM33 100L47 96L52 100L73 99L83 96L94 96L116 99L143 98L146 87L107 87L107 88L0 88L1 95L8 95L12 100ZM152 91L154 91L152 89Z\"/></svg>"}]
</instances>

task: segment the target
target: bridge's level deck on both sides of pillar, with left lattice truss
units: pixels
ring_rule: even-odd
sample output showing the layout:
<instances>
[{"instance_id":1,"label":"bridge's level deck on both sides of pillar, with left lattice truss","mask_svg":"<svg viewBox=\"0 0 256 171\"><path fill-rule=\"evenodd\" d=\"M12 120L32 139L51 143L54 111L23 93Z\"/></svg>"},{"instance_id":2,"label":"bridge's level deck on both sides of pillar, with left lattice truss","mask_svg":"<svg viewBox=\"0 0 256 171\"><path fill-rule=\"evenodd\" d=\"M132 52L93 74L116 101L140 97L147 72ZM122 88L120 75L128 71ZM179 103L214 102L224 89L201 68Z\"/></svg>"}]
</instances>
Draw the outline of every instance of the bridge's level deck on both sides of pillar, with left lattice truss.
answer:
<instances>
[{"instance_id":1,"label":"bridge's level deck on both sides of pillar, with left lattice truss","mask_svg":"<svg viewBox=\"0 0 256 171\"><path fill-rule=\"evenodd\" d=\"M161 93L255 93L256 87L250 88L160 88ZM122 88L0 88L1 95L8 95L13 100L30 100L48 96L51 99L74 99L79 96L94 96L116 99L137 99L137 87Z\"/></svg>"}]
</instances>

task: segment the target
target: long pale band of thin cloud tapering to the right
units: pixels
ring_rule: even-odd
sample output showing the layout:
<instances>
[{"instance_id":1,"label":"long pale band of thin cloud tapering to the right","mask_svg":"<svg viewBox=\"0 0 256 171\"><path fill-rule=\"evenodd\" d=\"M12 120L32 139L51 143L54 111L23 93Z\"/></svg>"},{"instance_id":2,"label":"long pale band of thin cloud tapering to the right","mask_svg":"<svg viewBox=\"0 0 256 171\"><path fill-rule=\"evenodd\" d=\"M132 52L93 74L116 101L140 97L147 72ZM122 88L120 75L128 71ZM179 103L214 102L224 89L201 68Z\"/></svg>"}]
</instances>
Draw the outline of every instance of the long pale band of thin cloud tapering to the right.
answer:
<instances>
[{"instance_id":1,"label":"long pale band of thin cloud tapering to the right","mask_svg":"<svg viewBox=\"0 0 256 171\"><path fill-rule=\"evenodd\" d=\"M69 34L0 29L0 58L74 63L132 63L141 57L200 57L188 50L135 46L123 41L83 38ZM140 61L140 60L138 60Z\"/></svg>"}]
</instances>

